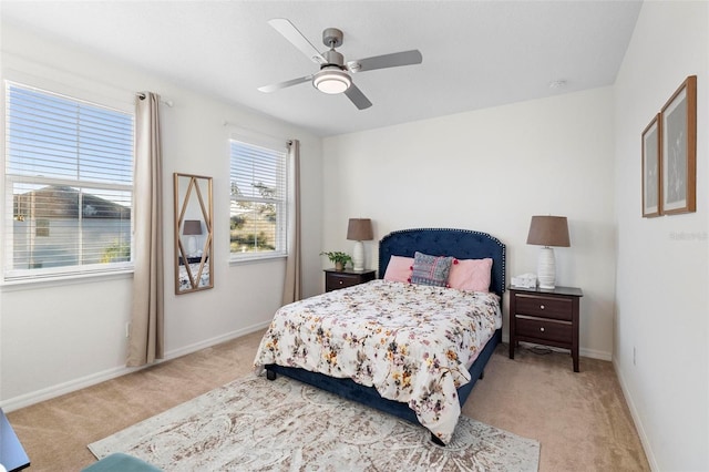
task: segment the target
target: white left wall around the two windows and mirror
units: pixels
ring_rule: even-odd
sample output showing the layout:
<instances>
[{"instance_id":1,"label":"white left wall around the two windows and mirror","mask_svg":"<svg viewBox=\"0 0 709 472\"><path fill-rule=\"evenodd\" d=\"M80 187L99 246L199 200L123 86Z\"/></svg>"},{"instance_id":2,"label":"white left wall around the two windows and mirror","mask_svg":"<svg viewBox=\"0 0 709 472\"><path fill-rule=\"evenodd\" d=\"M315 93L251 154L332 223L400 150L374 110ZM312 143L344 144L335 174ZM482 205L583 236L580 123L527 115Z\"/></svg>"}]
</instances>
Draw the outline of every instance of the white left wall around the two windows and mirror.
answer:
<instances>
[{"instance_id":1,"label":"white left wall around the two windows and mirror","mask_svg":"<svg viewBox=\"0 0 709 472\"><path fill-rule=\"evenodd\" d=\"M127 110L136 91L174 102L161 111L167 358L261 328L280 306L282 259L228 264L228 137L237 129L301 141L304 291L321 291L319 137L8 24L2 24L1 47L3 79ZM223 125L225 120L229 125ZM214 177L215 288L181 296L173 289L174 172ZM3 214L2 220L8 217ZM0 404L14 409L124 373L131 284L124 275L0 287Z\"/></svg>"}]
</instances>

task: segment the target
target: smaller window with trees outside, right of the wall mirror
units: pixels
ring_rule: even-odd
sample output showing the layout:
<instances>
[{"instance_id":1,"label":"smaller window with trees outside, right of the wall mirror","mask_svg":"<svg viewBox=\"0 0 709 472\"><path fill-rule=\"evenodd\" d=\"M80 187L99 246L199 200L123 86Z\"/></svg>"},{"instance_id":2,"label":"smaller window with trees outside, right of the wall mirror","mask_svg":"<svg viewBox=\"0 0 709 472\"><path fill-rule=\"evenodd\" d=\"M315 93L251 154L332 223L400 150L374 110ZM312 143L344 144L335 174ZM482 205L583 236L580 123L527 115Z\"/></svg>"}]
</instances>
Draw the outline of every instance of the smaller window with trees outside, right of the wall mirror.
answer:
<instances>
[{"instance_id":1,"label":"smaller window with trees outside, right of the wall mirror","mask_svg":"<svg viewBox=\"0 0 709 472\"><path fill-rule=\"evenodd\" d=\"M230 148L232 259L285 256L285 144L282 148L268 148L232 141Z\"/></svg>"}]
</instances>

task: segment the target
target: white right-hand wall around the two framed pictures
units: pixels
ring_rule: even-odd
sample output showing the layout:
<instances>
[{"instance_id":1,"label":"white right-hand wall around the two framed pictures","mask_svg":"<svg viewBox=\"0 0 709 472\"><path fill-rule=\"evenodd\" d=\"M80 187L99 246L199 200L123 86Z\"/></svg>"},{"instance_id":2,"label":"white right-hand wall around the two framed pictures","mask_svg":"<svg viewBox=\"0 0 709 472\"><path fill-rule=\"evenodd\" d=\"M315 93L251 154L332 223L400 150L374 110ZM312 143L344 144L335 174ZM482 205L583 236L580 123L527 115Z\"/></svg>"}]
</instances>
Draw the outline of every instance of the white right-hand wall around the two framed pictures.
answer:
<instances>
[{"instance_id":1,"label":"white right-hand wall around the two framed pictures","mask_svg":"<svg viewBox=\"0 0 709 472\"><path fill-rule=\"evenodd\" d=\"M650 464L662 471L709 470L708 6L646 1L615 86L614 362ZM697 212L641 218L640 134L692 74Z\"/></svg>"}]
</instances>

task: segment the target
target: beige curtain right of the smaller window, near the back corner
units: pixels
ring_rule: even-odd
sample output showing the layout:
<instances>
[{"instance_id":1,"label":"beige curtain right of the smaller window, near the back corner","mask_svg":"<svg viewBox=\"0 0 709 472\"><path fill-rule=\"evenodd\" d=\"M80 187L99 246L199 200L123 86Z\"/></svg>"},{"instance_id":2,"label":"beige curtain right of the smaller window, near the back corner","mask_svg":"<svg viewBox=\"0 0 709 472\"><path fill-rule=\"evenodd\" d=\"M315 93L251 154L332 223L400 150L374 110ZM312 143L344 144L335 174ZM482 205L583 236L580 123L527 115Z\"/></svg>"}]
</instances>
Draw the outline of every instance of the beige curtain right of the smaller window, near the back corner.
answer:
<instances>
[{"instance_id":1,"label":"beige curtain right of the smaller window, near the back corner","mask_svg":"<svg viewBox=\"0 0 709 472\"><path fill-rule=\"evenodd\" d=\"M302 298L301 256L300 256L300 142L288 142L288 173L292 176L288 208L288 259L286 260L286 280L282 304L287 305Z\"/></svg>"}]
</instances>

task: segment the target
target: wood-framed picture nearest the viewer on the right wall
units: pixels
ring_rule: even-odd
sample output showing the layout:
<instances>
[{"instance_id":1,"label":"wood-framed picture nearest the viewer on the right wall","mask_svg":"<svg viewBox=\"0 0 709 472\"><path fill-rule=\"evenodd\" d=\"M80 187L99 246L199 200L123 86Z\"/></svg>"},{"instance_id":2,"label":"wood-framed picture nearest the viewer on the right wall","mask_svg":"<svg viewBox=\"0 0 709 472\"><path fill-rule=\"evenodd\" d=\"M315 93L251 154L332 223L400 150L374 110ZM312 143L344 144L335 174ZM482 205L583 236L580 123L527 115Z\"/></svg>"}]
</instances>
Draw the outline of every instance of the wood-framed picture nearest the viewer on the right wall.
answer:
<instances>
[{"instance_id":1,"label":"wood-framed picture nearest the viewer on the right wall","mask_svg":"<svg viewBox=\"0 0 709 472\"><path fill-rule=\"evenodd\" d=\"M688 76L660 112L661 213L697 209L697 75Z\"/></svg>"}]
</instances>

